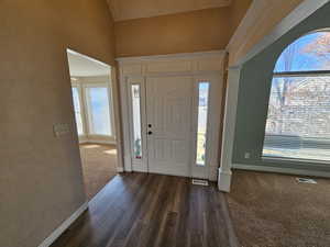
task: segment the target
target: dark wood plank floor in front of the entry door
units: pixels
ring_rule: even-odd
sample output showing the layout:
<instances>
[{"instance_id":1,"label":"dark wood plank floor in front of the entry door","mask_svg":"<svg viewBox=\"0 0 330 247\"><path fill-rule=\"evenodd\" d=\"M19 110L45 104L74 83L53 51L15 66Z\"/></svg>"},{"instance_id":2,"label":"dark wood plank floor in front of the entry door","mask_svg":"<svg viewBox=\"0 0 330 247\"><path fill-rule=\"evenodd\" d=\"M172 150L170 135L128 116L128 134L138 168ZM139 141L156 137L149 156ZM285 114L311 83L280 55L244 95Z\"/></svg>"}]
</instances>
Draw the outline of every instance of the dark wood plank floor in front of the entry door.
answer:
<instances>
[{"instance_id":1,"label":"dark wood plank floor in front of the entry door","mask_svg":"<svg viewBox=\"0 0 330 247\"><path fill-rule=\"evenodd\" d=\"M117 176L52 247L238 246L224 195L190 179Z\"/></svg>"}]
</instances>

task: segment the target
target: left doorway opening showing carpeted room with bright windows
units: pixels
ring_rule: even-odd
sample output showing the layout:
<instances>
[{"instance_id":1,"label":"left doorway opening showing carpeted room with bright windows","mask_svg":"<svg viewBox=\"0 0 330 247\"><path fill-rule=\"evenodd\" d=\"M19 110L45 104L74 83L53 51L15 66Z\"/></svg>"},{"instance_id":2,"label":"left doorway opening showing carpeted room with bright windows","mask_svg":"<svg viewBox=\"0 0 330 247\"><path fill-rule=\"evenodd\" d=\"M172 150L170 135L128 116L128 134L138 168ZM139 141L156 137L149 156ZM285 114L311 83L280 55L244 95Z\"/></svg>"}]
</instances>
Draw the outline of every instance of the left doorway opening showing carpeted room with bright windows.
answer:
<instances>
[{"instance_id":1,"label":"left doorway opening showing carpeted room with bright windows","mask_svg":"<svg viewBox=\"0 0 330 247\"><path fill-rule=\"evenodd\" d=\"M91 200L118 166L111 66L67 49L85 190Z\"/></svg>"}]
</instances>

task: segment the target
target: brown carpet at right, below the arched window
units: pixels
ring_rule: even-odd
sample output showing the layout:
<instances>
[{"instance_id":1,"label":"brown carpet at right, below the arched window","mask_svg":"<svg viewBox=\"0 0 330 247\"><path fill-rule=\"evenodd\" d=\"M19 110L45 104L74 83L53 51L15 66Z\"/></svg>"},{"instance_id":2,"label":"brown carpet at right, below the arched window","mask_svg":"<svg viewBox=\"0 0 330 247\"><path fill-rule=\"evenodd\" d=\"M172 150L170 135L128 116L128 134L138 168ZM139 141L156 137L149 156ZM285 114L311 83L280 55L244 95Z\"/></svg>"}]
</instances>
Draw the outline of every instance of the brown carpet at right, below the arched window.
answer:
<instances>
[{"instance_id":1,"label":"brown carpet at right, below the arched window","mask_svg":"<svg viewBox=\"0 0 330 247\"><path fill-rule=\"evenodd\" d=\"M234 171L227 198L241 246L330 246L330 179L316 180Z\"/></svg>"}]
</instances>

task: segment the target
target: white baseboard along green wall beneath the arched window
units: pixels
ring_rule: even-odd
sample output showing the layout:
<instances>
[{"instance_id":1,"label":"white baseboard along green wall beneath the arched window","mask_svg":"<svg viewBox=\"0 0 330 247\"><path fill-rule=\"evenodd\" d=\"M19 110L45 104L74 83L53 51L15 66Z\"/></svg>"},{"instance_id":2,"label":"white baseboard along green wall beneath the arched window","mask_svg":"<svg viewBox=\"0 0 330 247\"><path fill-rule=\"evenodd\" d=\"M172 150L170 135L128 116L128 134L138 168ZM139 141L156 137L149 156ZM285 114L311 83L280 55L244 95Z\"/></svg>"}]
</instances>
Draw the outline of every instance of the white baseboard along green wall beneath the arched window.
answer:
<instances>
[{"instance_id":1,"label":"white baseboard along green wall beneath the arched window","mask_svg":"<svg viewBox=\"0 0 330 247\"><path fill-rule=\"evenodd\" d=\"M306 169L271 167L271 166L268 167L253 166L253 165L244 165L244 164L233 164L232 168L238 170L253 170L253 171L276 172L276 173L285 173L285 175L315 176L315 177L330 178L330 172L318 171L318 170L306 170Z\"/></svg>"}]
</instances>

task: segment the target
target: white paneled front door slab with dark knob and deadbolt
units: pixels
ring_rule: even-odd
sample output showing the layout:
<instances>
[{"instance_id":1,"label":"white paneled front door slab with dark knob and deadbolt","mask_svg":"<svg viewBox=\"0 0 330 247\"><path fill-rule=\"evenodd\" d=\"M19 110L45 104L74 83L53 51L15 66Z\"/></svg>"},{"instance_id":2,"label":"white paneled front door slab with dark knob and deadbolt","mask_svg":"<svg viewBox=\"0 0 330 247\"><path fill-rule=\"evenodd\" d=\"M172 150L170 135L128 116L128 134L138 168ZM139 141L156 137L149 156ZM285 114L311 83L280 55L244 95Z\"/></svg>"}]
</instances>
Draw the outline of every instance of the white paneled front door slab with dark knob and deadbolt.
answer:
<instances>
[{"instance_id":1,"label":"white paneled front door slab with dark knob and deadbolt","mask_svg":"<svg viewBox=\"0 0 330 247\"><path fill-rule=\"evenodd\" d=\"M146 79L150 172L190 176L193 94L191 77Z\"/></svg>"}]
</instances>

